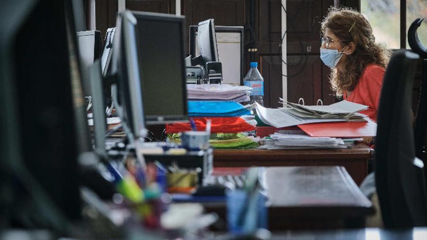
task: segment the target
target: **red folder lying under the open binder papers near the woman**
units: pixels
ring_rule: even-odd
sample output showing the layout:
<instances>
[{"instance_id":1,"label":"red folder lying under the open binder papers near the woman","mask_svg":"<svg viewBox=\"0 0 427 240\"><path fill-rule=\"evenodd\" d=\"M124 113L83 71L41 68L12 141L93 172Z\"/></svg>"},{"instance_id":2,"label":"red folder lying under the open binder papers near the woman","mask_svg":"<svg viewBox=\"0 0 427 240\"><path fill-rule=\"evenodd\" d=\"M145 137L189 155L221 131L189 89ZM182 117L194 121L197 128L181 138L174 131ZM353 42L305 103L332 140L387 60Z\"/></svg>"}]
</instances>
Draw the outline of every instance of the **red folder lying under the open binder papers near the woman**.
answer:
<instances>
[{"instance_id":1,"label":"red folder lying under the open binder papers near the woman","mask_svg":"<svg viewBox=\"0 0 427 240\"><path fill-rule=\"evenodd\" d=\"M359 138L377 135L377 123L367 122L328 122L298 125L312 137Z\"/></svg>"}]
</instances>

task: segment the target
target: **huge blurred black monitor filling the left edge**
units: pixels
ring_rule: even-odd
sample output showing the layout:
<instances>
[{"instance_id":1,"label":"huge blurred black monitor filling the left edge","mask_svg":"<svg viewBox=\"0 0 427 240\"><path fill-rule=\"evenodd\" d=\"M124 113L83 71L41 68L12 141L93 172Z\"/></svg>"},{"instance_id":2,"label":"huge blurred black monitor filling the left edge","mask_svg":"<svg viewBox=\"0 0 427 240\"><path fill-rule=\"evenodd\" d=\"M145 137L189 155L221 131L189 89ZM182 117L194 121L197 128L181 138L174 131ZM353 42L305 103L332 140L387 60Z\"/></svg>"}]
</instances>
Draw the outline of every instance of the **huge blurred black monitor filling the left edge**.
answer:
<instances>
[{"instance_id":1,"label":"huge blurred black monitor filling the left edge","mask_svg":"<svg viewBox=\"0 0 427 240\"><path fill-rule=\"evenodd\" d=\"M86 119L70 9L69 0L0 8L3 227L66 232L81 219L77 159Z\"/></svg>"}]
</instances>

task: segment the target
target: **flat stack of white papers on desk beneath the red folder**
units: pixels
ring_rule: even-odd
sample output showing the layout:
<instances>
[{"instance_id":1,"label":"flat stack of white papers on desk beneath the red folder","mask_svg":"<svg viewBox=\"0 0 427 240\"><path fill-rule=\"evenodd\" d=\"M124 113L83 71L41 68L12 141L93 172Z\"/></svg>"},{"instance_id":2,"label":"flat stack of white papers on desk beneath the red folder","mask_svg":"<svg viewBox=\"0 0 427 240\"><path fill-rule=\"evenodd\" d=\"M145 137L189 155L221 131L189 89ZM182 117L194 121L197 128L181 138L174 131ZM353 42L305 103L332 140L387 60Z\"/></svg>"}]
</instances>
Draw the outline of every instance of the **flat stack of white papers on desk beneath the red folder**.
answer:
<instances>
[{"instance_id":1,"label":"flat stack of white papers on desk beneath the red folder","mask_svg":"<svg viewBox=\"0 0 427 240\"><path fill-rule=\"evenodd\" d=\"M287 149L287 148L346 148L341 138L310 137L306 134L274 133L270 140L264 141L262 148Z\"/></svg>"}]
</instances>

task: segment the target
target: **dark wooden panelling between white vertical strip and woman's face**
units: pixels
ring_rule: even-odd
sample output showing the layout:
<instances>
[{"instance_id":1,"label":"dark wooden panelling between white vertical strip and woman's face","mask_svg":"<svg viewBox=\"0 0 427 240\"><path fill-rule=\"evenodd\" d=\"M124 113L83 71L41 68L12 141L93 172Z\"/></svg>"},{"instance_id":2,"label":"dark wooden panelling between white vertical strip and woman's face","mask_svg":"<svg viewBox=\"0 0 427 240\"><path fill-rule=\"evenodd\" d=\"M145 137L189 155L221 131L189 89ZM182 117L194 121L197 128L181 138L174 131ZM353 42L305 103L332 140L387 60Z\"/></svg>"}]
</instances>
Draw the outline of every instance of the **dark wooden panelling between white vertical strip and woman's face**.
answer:
<instances>
[{"instance_id":1,"label":"dark wooden panelling between white vertical strip and woman's face","mask_svg":"<svg viewBox=\"0 0 427 240\"><path fill-rule=\"evenodd\" d=\"M322 99L324 104L333 103L336 98L330 90L330 69L319 57L320 22L328 8L333 6L333 0L293 0L287 3L288 100L297 101L304 97L308 105L316 104L317 99ZM292 66L301 57L307 64ZM292 76L299 71L300 74Z\"/></svg>"}]
</instances>

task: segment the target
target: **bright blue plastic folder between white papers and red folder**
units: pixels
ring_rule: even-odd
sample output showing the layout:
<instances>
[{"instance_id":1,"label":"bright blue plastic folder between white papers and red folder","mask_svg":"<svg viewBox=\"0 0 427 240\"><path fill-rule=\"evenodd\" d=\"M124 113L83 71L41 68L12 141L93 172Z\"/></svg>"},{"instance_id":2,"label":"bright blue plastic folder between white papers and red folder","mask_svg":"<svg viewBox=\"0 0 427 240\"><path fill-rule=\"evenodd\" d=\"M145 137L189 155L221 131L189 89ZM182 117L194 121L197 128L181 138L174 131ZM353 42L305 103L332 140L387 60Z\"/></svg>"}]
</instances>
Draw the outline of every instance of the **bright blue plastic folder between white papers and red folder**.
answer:
<instances>
[{"instance_id":1,"label":"bright blue plastic folder between white papers and red folder","mask_svg":"<svg viewBox=\"0 0 427 240\"><path fill-rule=\"evenodd\" d=\"M242 104L233 101L188 101L189 116L242 116L250 111Z\"/></svg>"}]
</instances>

